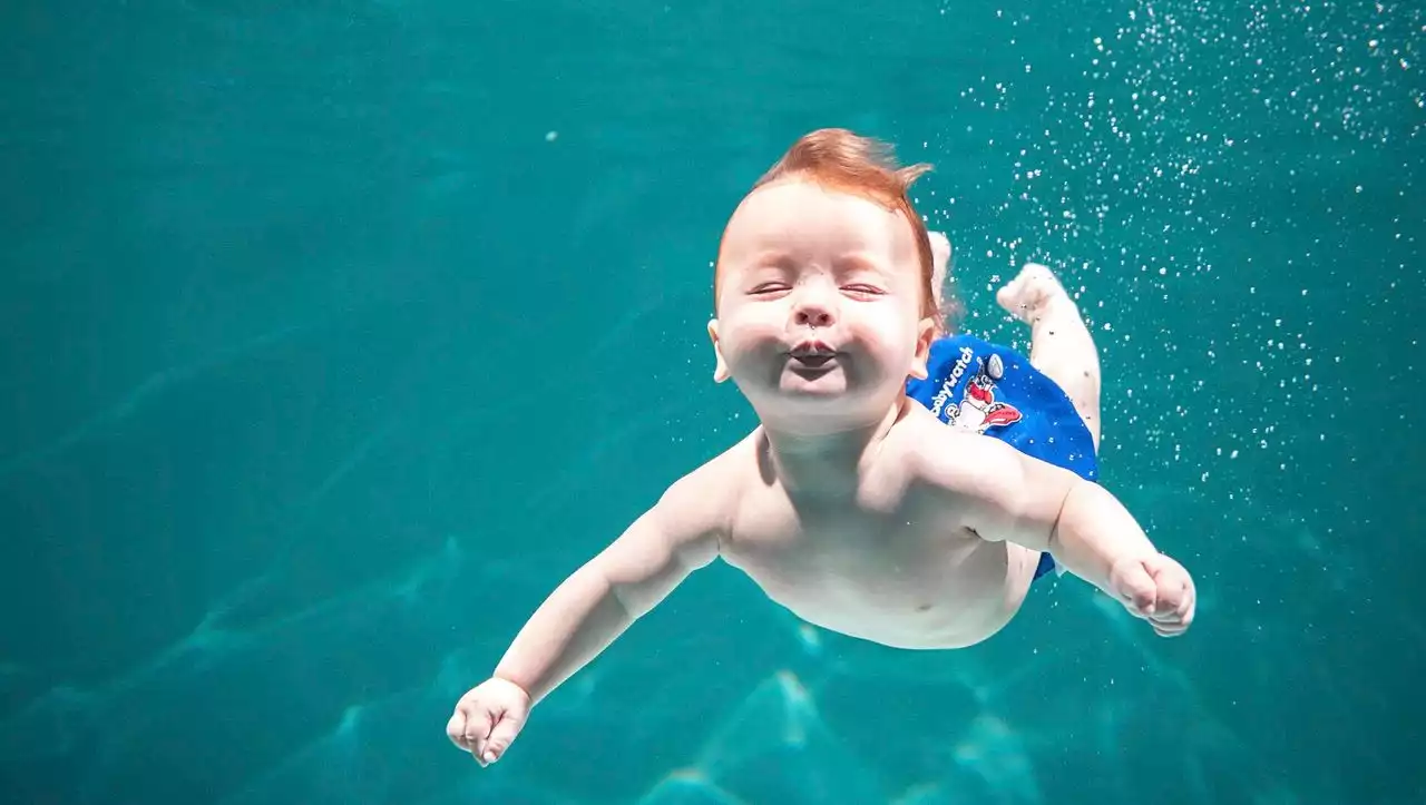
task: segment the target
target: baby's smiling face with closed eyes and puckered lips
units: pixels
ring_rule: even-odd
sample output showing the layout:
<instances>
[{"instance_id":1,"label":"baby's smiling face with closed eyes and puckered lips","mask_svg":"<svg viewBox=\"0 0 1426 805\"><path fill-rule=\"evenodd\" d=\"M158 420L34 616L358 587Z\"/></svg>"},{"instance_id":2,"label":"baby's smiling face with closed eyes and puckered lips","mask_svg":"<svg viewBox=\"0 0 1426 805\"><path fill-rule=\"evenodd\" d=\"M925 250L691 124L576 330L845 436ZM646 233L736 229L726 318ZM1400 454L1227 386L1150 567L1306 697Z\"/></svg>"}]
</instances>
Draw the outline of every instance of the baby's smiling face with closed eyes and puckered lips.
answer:
<instances>
[{"instance_id":1,"label":"baby's smiling face with closed eyes and puckered lips","mask_svg":"<svg viewBox=\"0 0 1426 805\"><path fill-rule=\"evenodd\" d=\"M864 198L804 181L754 191L729 222L709 323L717 378L766 420L878 416L924 375L911 227Z\"/></svg>"}]
</instances>

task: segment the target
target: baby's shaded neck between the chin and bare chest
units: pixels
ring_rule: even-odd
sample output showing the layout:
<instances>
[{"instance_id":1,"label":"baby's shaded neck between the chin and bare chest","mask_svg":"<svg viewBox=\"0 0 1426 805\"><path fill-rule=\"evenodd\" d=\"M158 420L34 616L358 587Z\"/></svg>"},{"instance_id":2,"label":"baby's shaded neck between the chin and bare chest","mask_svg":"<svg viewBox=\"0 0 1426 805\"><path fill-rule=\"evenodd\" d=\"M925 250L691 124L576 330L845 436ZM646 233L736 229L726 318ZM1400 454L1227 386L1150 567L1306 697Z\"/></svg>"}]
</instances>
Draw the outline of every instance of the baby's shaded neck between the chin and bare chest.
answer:
<instances>
[{"instance_id":1,"label":"baby's shaded neck between the chin and bare chest","mask_svg":"<svg viewBox=\"0 0 1426 805\"><path fill-rule=\"evenodd\" d=\"M824 429L763 422L766 456L777 480L790 493L846 494L861 480L867 460L906 415L901 398L877 420Z\"/></svg>"}]
</instances>

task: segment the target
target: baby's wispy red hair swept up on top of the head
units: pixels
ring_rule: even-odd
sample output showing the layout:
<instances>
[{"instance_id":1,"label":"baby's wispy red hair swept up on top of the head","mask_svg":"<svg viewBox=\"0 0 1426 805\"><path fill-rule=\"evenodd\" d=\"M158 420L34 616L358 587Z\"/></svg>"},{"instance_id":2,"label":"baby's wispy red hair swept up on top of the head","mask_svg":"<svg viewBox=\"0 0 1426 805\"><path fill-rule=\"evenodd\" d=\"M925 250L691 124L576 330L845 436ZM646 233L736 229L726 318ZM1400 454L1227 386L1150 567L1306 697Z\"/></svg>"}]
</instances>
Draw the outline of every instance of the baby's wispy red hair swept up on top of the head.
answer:
<instances>
[{"instance_id":1,"label":"baby's wispy red hair swept up on top of the head","mask_svg":"<svg viewBox=\"0 0 1426 805\"><path fill-rule=\"evenodd\" d=\"M891 212L900 212L911 225L915 256L921 269L921 316L940 318L935 295L931 292L931 239L925 222L917 215L907 197L911 184L931 170L931 165L897 165L893 150L886 142L861 137L846 128L819 128L801 135L777 162L769 168L753 188L779 180L806 180L827 189L866 198ZM722 252L722 248L719 249ZM714 275L714 288L717 276Z\"/></svg>"}]
</instances>

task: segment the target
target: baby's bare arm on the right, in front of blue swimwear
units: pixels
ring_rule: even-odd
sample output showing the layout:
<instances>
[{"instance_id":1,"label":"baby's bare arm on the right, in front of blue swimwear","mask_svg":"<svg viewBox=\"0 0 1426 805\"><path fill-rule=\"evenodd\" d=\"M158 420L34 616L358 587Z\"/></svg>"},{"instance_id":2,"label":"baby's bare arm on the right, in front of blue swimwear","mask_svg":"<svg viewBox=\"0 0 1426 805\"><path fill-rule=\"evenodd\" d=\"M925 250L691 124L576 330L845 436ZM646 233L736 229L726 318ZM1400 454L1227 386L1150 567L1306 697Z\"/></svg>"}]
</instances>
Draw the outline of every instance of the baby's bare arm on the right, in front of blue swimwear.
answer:
<instances>
[{"instance_id":1,"label":"baby's bare arm on the right, in front of blue swimwear","mask_svg":"<svg viewBox=\"0 0 1426 805\"><path fill-rule=\"evenodd\" d=\"M997 439L928 430L920 453L925 480L967 507L967 524L983 539L1050 551L1159 634L1188 628L1192 578L1154 547L1114 494Z\"/></svg>"}]
</instances>

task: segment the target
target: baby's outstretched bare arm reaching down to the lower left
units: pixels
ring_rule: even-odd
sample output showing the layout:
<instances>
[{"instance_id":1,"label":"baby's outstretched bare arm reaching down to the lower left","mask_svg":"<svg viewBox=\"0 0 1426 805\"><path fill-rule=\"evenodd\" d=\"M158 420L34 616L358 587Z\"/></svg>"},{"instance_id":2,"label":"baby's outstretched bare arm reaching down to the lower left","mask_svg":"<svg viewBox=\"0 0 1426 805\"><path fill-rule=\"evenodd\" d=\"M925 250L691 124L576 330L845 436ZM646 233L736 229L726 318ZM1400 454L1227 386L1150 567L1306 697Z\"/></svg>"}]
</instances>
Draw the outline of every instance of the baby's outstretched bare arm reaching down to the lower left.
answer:
<instances>
[{"instance_id":1,"label":"baby's outstretched bare arm reaching down to the lower left","mask_svg":"<svg viewBox=\"0 0 1426 805\"><path fill-rule=\"evenodd\" d=\"M609 547L566 578L515 637L495 674L456 702L446 735L481 765L498 761L529 710L599 655L693 570L713 561L722 490L709 467L674 483Z\"/></svg>"}]
</instances>

